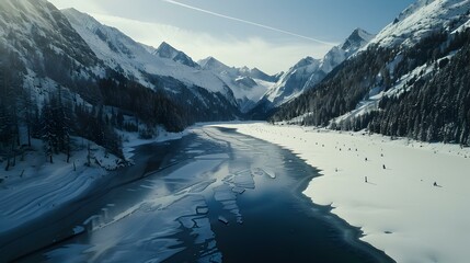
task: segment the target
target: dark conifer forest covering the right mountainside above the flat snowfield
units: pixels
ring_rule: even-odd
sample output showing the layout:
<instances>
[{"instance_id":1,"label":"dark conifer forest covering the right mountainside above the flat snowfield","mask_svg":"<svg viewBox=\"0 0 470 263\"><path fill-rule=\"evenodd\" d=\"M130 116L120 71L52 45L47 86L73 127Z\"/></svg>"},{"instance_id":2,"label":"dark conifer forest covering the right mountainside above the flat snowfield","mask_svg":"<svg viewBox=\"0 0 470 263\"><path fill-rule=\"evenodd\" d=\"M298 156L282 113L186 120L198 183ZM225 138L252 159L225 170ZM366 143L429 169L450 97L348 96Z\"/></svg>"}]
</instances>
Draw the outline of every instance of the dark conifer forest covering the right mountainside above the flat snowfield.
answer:
<instances>
[{"instance_id":1,"label":"dark conifer forest covering the right mountainside above the flat snowfield","mask_svg":"<svg viewBox=\"0 0 470 263\"><path fill-rule=\"evenodd\" d=\"M444 28L412 47L385 48L377 45L335 68L316 87L277 108L272 122L302 116L302 125L408 136L425 141L468 145L470 30L449 34ZM448 57L449 54L455 54ZM394 64L393 69L391 65ZM404 83L403 91L383 96L375 111L332 122L368 99L372 88L388 91L420 66Z\"/></svg>"}]
</instances>

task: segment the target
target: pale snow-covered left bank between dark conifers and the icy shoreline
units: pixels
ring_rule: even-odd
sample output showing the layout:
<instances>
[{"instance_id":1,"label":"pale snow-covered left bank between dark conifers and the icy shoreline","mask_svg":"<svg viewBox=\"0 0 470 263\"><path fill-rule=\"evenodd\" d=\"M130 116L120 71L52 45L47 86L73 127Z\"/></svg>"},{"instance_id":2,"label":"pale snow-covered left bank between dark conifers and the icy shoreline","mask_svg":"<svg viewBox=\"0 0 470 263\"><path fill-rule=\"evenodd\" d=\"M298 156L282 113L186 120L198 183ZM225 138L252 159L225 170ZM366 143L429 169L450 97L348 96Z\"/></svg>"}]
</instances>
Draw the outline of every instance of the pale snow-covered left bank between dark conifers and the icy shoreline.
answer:
<instances>
[{"instance_id":1,"label":"pale snow-covered left bank between dark conifers and the icy shoreline","mask_svg":"<svg viewBox=\"0 0 470 263\"><path fill-rule=\"evenodd\" d=\"M124 155L131 160L134 148L153 141L179 139L185 133L171 134L160 130L152 140L138 139L137 134L125 133ZM0 162L0 233L21 227L28 221L67 205L90 187L110 180L106 170L114 170L123 162L113 155L106 155L102 147L91 146L91 165L88 162L87 140L76 138L77 149L67 163L65 155L54 156L49 163L41 140L33 140L31 150L16 158L16 165L4 170Z\"/></svg>"}]
</instances>

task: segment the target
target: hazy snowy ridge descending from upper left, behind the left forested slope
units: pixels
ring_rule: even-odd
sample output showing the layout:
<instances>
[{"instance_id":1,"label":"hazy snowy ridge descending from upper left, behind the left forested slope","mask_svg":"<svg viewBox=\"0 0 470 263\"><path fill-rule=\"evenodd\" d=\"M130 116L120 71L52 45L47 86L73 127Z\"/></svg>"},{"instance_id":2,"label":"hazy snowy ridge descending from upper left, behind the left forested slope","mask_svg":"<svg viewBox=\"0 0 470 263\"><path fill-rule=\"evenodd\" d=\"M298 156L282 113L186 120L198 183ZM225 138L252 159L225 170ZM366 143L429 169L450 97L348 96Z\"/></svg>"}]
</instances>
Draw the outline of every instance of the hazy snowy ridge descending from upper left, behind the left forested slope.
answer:
<instances>
[{"instance_id":1,"label":"hazy snowy ridge descending from upper left, behind the left forested slope","mask_svg":"<svg viewBox=\"0 0 470 263\"><path fill-rule=\"evenodd\" d=\"M62 10L73 28L108 67L135 77L140 83L152 87L146 75L168 76L187 85L197 85L210 92L220 92L233 104L231 91L210 71L197 70L172 58L153 56L141 44L118 30L101 24L92 16L74 9ZM163 48L164 49L164 48ZM161 53L163 54L163 52ZM164 54L170 56L173 54Z\"/></svg>"}]
</instances>

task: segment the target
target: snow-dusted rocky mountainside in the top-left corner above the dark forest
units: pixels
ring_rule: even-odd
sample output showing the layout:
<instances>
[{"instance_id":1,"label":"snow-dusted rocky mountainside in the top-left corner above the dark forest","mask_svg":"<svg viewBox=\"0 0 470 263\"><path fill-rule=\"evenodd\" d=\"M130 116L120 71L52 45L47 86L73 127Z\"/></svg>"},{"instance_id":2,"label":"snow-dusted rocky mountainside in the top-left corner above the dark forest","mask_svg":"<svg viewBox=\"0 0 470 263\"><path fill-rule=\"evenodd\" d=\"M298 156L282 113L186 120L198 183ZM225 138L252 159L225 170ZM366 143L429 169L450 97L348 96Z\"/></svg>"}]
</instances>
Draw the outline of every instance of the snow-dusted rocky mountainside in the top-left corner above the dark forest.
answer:
<instances>
[{"instance_id":1,"label":"snow-dusted rocky mountainside in the top-left corner above the dark forest","mask_svg":"<svg viewBox=\"0 0 470 263\"><path fill-rule=\"evenodd\" d=\"M24 85L39 105L59 84L70 85L72 92L80 92L87 100L95 100L95 90L88 90L83 82L102 76L104 68L68 20L49 2L0 1L0 47L4 50L0 54L3 66L14 64L4 71L14 70L20 78L18 83ZM80 95L76 98L81 100Z\"/></svg>"}]
</instances>

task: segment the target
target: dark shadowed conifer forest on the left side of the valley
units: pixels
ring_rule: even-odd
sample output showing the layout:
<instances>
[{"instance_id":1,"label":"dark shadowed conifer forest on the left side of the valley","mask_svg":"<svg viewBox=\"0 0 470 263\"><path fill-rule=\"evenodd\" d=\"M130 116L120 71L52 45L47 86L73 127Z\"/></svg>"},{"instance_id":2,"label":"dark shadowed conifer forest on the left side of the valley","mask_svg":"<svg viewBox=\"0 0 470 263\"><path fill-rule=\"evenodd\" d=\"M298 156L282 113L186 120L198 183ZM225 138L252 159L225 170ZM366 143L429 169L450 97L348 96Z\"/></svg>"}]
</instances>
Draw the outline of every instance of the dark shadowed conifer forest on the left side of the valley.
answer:
<instances>
[{"instance_id":1,"label":"dark shadowed conifer forest on the left side of the valley","mask_svg":"<svg viewBox=\"0 0 470 263\"><path fill-rule=\"evenodd\" d=\"M83 79L73 82L67 75L60 80L73 85L39 87L44 99L33 94L35 88L31 83L24 83L26 72L19 54L0 45L0 158L7 162L5 170L14 167L18 157L31 148L32 138L43 140L49 162L60 152L70 160L73 136L94 141L123 158L118 129L150 138L156 136L157 125L170 132L181 132L190 125L165 94L116 72L108 72L108 78L96 82ZM125 122L124 115L136 122Z\"/></svg>"}]
</instances>

